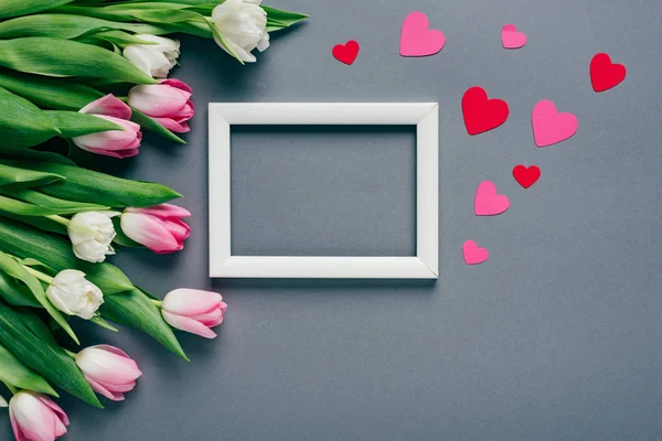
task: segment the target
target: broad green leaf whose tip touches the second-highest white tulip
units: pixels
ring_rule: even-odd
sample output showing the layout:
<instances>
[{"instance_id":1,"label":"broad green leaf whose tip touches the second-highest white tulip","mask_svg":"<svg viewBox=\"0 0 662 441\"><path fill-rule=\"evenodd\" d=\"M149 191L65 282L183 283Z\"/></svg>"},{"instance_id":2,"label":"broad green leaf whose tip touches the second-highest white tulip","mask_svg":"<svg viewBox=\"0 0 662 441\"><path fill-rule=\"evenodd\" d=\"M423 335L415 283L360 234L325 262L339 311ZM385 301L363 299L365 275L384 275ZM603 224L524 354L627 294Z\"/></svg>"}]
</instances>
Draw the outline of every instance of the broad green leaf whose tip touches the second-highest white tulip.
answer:
<instances>
[{"instance_id":1,"label":"broad green leaf whose tip touches the second-highest white tulip","mask_svg":"<svg viewBox=\"0 0 662 441\"><path fill-rule=\"evenodd\" d=\"M50 36L0 41L0 65L28 74L158 84L128 60L102 47Z\"/></svg>"}]
</instances>

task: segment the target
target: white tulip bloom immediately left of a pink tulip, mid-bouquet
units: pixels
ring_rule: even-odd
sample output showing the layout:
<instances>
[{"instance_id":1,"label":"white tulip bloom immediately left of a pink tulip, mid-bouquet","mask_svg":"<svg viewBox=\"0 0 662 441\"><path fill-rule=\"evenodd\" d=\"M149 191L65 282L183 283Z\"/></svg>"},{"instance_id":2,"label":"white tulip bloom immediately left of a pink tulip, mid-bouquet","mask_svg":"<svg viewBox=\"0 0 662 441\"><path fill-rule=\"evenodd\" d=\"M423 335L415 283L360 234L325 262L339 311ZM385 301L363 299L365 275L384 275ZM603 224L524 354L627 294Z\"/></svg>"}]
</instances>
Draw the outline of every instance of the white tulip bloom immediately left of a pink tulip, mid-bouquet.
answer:
<instances>
[{"instance_id":1,"label":"white tulip bloom immediately left of a pink tulip, mid-bouquet","mask_svg":"<svg viewBox=\"0 0 662 441\"><path fill-rule=\"evenodd\" d=\"M117 234L110 217L117 215L117 212L85 212L71 218L67 233L78 259L96 263L115 254L110 244Z\"/></svg>"}]
</instances>

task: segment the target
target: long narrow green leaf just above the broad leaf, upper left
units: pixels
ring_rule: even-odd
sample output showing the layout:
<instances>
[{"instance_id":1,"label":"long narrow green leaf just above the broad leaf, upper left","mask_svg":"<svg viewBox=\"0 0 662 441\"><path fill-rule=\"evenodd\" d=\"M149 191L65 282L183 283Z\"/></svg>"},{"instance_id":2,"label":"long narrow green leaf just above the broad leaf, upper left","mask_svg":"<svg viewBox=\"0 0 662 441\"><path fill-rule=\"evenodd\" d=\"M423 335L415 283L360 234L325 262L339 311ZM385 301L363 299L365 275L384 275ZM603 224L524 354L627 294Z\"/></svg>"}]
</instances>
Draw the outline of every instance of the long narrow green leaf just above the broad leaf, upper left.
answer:
<instances>
[{"instance_id":1,"label":"long narrow green leaf just above the broad leaf, upper left","mask_svg":"<svg viewBox=\"0 0 662 441\"><path fill-rule=\"evenodd\" d=\"M21 36L53 36L73 40L90 32L121 29L139 34L159 35L166 30L151 24L121 23L93 17L46 13L20 17L0 23L0 39Z\"/></svg>"}]
</instances>

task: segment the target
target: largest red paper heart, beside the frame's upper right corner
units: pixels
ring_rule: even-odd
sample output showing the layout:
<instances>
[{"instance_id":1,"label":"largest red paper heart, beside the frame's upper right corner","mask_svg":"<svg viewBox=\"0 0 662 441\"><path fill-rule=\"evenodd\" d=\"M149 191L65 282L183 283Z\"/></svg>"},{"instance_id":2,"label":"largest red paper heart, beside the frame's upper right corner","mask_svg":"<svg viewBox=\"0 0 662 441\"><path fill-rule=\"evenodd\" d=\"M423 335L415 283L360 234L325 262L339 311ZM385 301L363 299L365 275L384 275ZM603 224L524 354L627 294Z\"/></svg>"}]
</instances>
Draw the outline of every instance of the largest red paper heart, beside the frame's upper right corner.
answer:
<instances>
[{"instance_id":1,"label":"largest red paper heart, beside the frame's upper right corner","mask_svg":"<svg viewBox=\"0 0 662 441\"><path fill-rule=\"evenodd\" d=\"M482 87L470 87L462 96L462 114L469 135L495 129L505 122L509 112L503 99L488 99Z\"/></svg>"}]
</instances>

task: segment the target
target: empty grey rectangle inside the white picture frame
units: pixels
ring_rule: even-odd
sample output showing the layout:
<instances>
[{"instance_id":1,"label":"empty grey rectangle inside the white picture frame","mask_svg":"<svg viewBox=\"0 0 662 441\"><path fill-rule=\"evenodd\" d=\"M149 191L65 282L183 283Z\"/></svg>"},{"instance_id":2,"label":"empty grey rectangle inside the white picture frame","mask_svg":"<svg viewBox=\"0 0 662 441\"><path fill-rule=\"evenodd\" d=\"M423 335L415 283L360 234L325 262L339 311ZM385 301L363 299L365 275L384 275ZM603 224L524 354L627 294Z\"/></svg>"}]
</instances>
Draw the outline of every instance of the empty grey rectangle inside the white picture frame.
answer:
<instances>
[{"instance_id":1,"label":"empty grey rectangle inside the white picture frame","mask_svg":"<svg viewBox=\"0 0 662 441\"><path fill-rule=\"evenodd\" d=\"M232 126L233 256L415 256L416 126Z\"/></svg>"}]
</instances>

